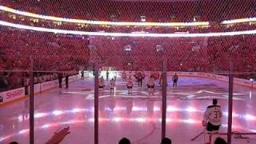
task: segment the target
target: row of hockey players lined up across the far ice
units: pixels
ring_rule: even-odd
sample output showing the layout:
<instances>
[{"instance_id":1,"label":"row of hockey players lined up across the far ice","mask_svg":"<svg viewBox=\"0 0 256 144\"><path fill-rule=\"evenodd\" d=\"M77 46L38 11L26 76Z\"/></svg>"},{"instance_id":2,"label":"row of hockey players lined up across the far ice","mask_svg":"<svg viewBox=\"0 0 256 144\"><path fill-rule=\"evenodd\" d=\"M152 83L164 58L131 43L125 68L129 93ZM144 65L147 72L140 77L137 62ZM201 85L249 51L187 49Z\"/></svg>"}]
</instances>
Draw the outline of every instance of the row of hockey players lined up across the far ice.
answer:
<instances>
[{"instance_id":1,"label":"row of hockey players lined up across the far ice","mask_svg":"<svg viewBox=\"0 0 256 144\"><path fill-rule=\"evenodd\" d=\"M127 90L128 90L128 94L132 94L132 89L133 89L133 86L134 86L134 81L131 78L131 76L132 76L131 73L128 74L128 76L127 76L125 71L122 72L122 82L126 82L126 87L127 87ZM134 78L136 78L136 80L138 82L138 87L142 87L142 81L143 81L144 78L146 78L146 74L144 72L135 72ZM108 81L108 72L106 73L106 80ZM162 85L162 75L160 76L160 74L157 73L157 72L150 74L150 77L149 77L148 82L147 82L149 95L154 95L154 84L155 84L156 81L158 81L158 83L161 86ZM177 74L174 74L173 82L174 82L173 86L177 87L177 83L178 83L178 75ZM100 90L104 89L105 80L104 80L103 77L99 78L98 86L99 86ZM110 94L114 94L114 88L116 86L116 82L115 82L114 78L112 78L110 80L109 86L110 86Z\"/></svg>"}]
</instances>

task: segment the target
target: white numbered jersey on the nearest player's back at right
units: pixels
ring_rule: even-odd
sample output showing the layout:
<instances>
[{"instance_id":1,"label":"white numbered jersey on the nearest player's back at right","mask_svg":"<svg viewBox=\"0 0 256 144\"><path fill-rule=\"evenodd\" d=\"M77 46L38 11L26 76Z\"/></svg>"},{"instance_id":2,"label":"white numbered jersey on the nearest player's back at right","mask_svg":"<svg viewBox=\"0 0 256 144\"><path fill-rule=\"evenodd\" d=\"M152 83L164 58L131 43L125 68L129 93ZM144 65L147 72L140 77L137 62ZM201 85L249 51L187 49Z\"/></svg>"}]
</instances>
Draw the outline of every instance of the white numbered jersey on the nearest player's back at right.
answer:
<instances>
[{"instance_id":1,"label":"white numbered jersey on the nearest player's back at right","mask_svg":"<svg viewBox=\"0 0 256 144\"><path fill-rule=\"evenodd\" d=\"M220 126L222 124L222 108L221 106L208 106L205 114L203 115L205 122L210 122L214 126Z\"/></svg>"}]
</instances>

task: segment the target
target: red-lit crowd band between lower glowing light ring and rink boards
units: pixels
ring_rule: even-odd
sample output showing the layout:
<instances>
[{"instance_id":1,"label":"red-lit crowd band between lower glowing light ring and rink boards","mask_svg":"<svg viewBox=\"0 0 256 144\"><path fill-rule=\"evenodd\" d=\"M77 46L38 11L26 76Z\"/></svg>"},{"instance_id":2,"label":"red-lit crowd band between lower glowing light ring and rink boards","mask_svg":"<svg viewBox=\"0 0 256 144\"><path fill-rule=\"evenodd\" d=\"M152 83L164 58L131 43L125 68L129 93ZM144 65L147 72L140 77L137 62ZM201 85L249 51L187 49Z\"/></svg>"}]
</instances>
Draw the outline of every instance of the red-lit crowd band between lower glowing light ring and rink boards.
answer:
<instances>
[{"instance_id":1,"label":"red-lit crowd band between lower glowing light ring and rink boards","mask_svg":"<svg viewBox=\"0 0 256 144\"><path fill-rule=\"evenodd\" d=\"M47 71L82 70L90 58L99 57L102 66L117 70L161 70L162 58L167 70L227 72L230 61L234 71L256 70L254 35L210 38L118 38L82 37L29 30L1 28L0 70L29 70L34 58L37 75ZM128 48L127 48L128 46ZM28 74L6 73L10 87L21 86ZM238 75L252 78L253 75Z\"/></svg>"}]
</instances>

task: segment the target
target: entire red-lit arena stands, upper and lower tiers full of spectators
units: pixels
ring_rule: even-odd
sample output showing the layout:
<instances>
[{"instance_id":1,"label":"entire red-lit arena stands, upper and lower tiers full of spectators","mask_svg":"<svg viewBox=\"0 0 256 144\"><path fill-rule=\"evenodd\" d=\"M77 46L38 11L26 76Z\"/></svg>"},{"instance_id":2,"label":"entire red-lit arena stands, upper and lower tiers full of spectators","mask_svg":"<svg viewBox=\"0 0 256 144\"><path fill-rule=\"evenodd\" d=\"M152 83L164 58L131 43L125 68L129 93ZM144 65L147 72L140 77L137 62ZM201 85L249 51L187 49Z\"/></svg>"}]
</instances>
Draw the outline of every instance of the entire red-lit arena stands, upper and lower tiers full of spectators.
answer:
<instances>
[{"instance_id":1,"label":"entire red-lit arena stands, upper and lower tiers full of spectators","mask_svg":"<svg viewBox=\"0 0 256 144\"><path fill-rule=\"evenodd\" d=\"M233 18L250 18L254 9L252 0L242 2L234 0L226 2L126 2L126 1L92 1L84 6L80 1L72 3L52 1L5 1L2 6L10 6L17 10L26 10L35 14L45 14L62 18L78 18L89 20L140 22L146 16L146 22L193 22L208 21L210 26L161 27L161 26L93 26L75 23L53 22L40 19L31 22L31 18L1 11L0 18L6 22L14 22L28 26L41 26L65 30L86 30L131 33L145 31L150 33L209 33L240 30L254 30L255 24L242 23L233 26L220 24L222 20ZM146 4L146 5L145 5ZM222 4L222 5L220 5ZM255 4L255 5L254 5ZM73 10L77 8L78 10ZM172 9L170 9L172 7ZM190 9L187 9L190 7ZM71 10L72 9L72 10ZM226 13L222 13L225 9ZM236 11L234 11L236 10ZM213 13L214 11L214 13ZM78 13L79 12L79 13ZM167 69L172 71L226 72L230 59L234 61L236 72L256 70L255 59L256 37L254 35L210 38L114 38L92 37L67 34L50 34L29 30L16 30L0 27L0 70L29 70L30 54L34 55L34 70L68 71L81 70L90 66L94 54L100 57L101 66L113 66L117 70L160 70L162 58L167 60ZM124 50L131 46L131 51ZM163 47L157 52L156 46ZM96 49L92 50L90 47ZM194 50L194 47L198 47ZM40 73L43 74L43 73ZM27 74L10 74L8 81L11 88L20 86L17 79ZM236 75L249 78L248 75Z\"/></svg>"}]
</instances>

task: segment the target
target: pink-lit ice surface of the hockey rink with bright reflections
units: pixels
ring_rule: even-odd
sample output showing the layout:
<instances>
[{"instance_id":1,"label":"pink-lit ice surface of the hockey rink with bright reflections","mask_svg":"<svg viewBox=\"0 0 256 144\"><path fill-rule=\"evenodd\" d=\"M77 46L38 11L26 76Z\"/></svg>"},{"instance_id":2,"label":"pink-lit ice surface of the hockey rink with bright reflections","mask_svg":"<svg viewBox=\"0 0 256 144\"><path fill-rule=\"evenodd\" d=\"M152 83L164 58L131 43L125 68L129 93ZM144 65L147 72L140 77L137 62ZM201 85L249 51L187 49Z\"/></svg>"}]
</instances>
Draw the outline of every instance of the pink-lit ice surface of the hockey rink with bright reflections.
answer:
<instances>
[{"instance_id":1,"label":"pink-lit ice surface of the hockey rink with bright reflections","mask_svg":"<svg viewBox=\"0 0 256 144\"><path fill-rule=\"evenodd\" d=\"M228 83L207 78L180 77L178 88L167 86L166 135L174 144L202 144L204 134L194 142L190 139L202 132L202 114L212 98L222 106L223 121L219 132L226 132ZM109 87L99 96L99 143L114 144L122 137L133 144L156 144L161 138L160 86L148 96L146 82L128 95L126 83L117 80L114 95ZM256 90L234 85L233 131L256 132ZM70 126L71 133L63 144L94 143L94 82L93 79L70 83L69 90L52 89L34 98L35 143L45 143L54 132ZM222 136L226 138L226 135ZM234 137L234 136L233 136ZM249 137L245 135L245 137ZM29 143L28 99L0 107L0 143ZM256 136L233 138L233 143L256 143Z\"/></svg>"}]
</instances>

